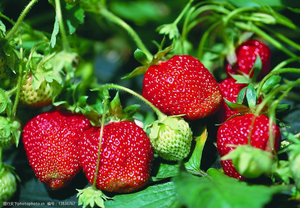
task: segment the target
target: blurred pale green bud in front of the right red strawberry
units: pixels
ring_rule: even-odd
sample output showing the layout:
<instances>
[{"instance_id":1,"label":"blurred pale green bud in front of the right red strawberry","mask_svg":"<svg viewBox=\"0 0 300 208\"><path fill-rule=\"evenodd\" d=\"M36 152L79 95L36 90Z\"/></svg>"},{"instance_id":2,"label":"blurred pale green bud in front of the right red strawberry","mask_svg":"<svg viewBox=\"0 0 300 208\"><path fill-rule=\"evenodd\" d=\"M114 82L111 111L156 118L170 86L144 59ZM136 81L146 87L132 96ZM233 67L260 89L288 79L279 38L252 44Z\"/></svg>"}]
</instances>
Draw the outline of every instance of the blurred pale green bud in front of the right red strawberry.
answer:
<instances>
[{"instance_id":1,"label":"blurred pale green bud in front of the right red strawberry","mask_svg":"<svg viewBox=\"0 0 300 208\"><path fill-rule=\"evenodd\" d=\"M257 178L262 174L270 174L274 163L272 153L250 145L240 145L230 151L221 160L232 160L234 168L246 178Z\"/></svg>"}]
</instances>

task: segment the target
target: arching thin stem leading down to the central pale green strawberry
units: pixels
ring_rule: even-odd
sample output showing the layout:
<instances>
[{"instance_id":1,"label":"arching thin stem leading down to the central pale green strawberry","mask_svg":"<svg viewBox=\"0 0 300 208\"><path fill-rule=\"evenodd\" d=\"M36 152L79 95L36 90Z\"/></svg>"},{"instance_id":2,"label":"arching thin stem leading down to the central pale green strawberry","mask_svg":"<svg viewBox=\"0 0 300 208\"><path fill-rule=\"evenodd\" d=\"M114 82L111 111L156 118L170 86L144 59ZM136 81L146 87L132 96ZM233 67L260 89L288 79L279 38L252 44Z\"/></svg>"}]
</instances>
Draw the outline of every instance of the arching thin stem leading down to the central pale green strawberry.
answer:
<instances>
[{"instance_id":1,"label":"arching thin stem leading down to the central pale green strawberry","mask_svg":"<svg viewBox=\"0 0 300 208\"><path fill-rule=\"evenodd\" d=\"M157 107L155 107L151 102L149 102L147 99L145 99L143 96L141 96L140 94L134 92L133 90L130 90L126 87L117 85L117 84L106 84L100 87L100 89L119 89L119 90L123 90L127 93L130 93L134 96L136 96L138 99L142 100L143 102L145 102L148 106L150 106L150 108L153 109L153 111L157 114L159 120L163 120L164 118L166 118L166 115L164 115L162 112L160 112L159 109L157 109ZM98 89L98 88L97 88Z\"/></svg>"}]
</instances>

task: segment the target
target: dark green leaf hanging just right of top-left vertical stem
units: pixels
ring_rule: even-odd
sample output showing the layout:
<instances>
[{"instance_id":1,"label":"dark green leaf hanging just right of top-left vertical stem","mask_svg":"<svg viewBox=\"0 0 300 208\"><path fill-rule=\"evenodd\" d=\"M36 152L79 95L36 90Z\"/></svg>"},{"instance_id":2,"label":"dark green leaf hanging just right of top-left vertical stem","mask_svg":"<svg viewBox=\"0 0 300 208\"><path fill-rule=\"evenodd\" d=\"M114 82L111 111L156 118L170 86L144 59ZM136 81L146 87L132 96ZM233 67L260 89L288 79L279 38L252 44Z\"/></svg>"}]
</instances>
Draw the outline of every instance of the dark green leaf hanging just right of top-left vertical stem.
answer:
<instances>
[{"instance_id":1,"label":"dark green leaf hanging just right of top-left vertical stem","mask_svg":"<svg viewBox=\"0 0 300 208\"><path fill-rule=\"evenodd\" d=\"M84 23L84 10L79 4L66 4L65 9L63 9L63 14L70 34L73 34L76 31L79 24Z\"/></svg>"}]
</instances>

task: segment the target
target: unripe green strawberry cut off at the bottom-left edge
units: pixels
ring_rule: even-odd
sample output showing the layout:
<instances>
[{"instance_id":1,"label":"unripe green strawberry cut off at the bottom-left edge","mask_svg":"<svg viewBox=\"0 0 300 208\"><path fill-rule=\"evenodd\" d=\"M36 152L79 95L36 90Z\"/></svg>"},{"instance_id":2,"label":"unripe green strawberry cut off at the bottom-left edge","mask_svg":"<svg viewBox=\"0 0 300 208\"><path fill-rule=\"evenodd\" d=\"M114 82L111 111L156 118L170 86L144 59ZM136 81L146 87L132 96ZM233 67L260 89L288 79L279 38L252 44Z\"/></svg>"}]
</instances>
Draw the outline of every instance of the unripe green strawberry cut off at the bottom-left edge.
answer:
<instances>
[{"instance_id":1,"label":"unripe green strawberry cut off at the bottom-left edge","mask_svg":"<svg viewBox=\"0 0 300 208\"><path fill-rule=\"evenodd\" d=\"M17 190L15 175L5 168L0 170L0 206L8 201Z\"/></svg>"}]
</instances>

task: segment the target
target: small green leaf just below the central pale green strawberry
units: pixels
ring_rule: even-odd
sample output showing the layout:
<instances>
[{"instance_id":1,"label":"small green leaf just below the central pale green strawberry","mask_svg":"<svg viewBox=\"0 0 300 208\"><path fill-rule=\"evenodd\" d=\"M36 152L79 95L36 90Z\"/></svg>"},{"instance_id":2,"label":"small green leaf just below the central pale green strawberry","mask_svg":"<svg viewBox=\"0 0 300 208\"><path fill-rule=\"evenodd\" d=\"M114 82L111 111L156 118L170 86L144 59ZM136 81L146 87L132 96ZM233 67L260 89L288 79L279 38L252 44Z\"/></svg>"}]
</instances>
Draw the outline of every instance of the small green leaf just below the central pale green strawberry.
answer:
<instances>
[{"instance_id":1,"label":"small green leaf just below the central pale green strawberry","mask_svg":"<svg viewBox=\"0 0 300 208\"><path fill-rule=\"evenodd\" d=\"M155 177L152 177L152 181L160 181L165 178L173 177L179 175L179 165L170 165L165 163L160 163L158 172Z\"/></svg>"}]
</instances>

